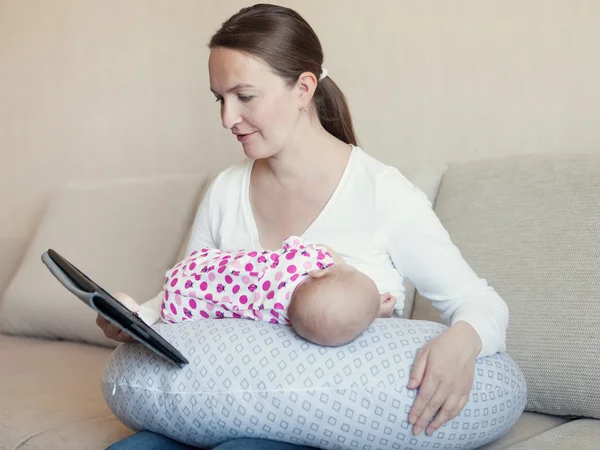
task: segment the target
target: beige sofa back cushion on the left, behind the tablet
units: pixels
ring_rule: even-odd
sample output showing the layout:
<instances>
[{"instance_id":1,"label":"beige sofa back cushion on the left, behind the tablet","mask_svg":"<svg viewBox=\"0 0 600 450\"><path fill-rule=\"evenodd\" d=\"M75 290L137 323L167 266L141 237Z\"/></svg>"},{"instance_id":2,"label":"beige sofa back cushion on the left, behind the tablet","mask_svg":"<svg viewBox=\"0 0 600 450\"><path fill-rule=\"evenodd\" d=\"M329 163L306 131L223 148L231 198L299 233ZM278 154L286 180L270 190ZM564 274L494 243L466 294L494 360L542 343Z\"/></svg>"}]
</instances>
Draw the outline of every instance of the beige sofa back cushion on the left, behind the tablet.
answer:
<instances>
[{"instance_id":1,"label":"beige sofa back cushion on the left, behind the tablet","mask_svg":"<svg viewBox=\"0 0 600 450\"><path fill-rule=\"evenodd\" d=\"M206 176L74 184L50 201L0 303L0 331L114 346L94 312L41 262L53 248L109 292L155 296L177 260Z\"/></svg>"}]
</instances>

